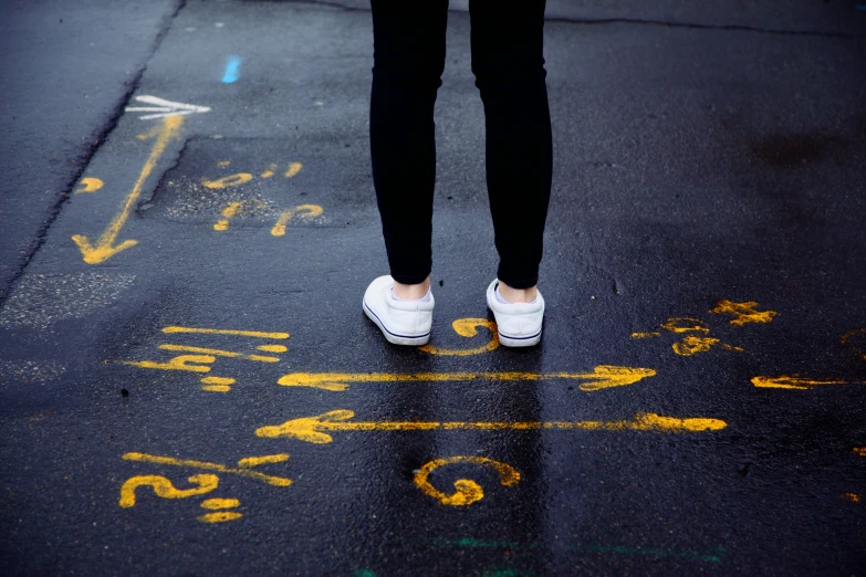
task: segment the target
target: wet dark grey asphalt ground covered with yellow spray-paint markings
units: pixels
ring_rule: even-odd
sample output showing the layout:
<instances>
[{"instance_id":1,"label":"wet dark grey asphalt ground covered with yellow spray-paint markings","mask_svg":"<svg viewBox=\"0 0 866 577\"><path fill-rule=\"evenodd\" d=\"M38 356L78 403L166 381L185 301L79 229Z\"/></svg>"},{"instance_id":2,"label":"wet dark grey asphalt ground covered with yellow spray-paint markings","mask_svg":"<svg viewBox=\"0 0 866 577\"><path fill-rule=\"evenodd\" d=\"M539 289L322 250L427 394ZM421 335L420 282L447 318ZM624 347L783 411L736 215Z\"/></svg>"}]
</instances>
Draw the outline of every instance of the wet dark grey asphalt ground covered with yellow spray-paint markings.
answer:
<instances>
[{"instance_id":1,"label":"wet dark grey asphalt ground covered with yellow spray-paint markings","mask_svg":"<svg viewBox=\"0 0 866 577\"><path fill-rule=\"evenodd\" d=\"M436 350L361 308L365 3L10 4L0 570L866 575L866 7L766 4L551 0L529 350L459 2Z\"/></svg>"}]
</instances>

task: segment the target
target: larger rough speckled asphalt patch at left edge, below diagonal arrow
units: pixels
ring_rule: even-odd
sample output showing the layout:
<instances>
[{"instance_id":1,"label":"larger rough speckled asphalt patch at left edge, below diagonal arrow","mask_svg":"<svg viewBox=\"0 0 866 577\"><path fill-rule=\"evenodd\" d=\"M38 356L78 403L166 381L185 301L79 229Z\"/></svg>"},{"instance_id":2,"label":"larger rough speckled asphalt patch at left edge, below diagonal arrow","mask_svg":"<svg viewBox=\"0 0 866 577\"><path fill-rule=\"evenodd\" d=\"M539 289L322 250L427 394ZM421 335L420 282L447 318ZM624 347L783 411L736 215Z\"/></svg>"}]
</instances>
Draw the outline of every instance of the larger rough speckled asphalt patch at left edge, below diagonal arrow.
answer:
<instances>
[{"instance_id":1,"label":"larger rough speckled asphalt patch at left edge, below diagonal arrow","mask_svg":"<svg viewBox=\"0 0 866 577\"><path fill-rule=\"evenodd\" d=\"M134 274L104 272L27 275L0 312L0 326L44 329L82 318L115 302L134 280Z\"/></svg>"}]
</instances>

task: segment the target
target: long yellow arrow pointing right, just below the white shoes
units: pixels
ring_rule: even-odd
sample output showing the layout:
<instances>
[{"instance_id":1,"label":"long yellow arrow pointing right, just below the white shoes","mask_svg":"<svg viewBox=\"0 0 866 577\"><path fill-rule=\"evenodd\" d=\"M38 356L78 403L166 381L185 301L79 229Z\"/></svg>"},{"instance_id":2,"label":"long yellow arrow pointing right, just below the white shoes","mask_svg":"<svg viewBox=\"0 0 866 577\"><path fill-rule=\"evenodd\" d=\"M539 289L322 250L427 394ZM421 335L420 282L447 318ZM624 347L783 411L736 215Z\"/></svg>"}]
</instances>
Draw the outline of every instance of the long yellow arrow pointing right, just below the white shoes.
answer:
<instances>
[{"instance_id":1,"label":"long yellow arrow pointing right, just below the white shoes","mask_svg":"<svg viewBox=\"0 0 866 577\"><path fill-rule=\"evenodd\" d=\"M648 368L616 367L598 365L592 373L290 373L278 382L284 387L311 387L342 391L349 382L421 382L421 381L467 381L467 380L585 380L580 389L586 392L633 385L656 371Z\"/></svg>"}]
</instances>

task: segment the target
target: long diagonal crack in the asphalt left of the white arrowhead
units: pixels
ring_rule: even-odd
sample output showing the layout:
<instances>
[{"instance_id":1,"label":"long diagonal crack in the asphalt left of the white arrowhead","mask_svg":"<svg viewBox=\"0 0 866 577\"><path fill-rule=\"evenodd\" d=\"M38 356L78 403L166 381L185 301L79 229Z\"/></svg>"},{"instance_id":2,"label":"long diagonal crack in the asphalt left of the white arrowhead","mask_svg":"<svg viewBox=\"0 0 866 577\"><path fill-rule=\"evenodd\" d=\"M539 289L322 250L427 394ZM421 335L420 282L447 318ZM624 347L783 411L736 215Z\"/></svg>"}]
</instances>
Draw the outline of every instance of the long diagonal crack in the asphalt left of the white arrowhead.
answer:
<instances>
[{"instance_id":1,"label":"long diagonal crack in the asphalt left of the white arrowhead","mask_svg":"<svg viewBox=\"0 0 866 577\"><path fill-rule=\"evenodd\" d=\"M108 118L105 120L103 126L101 128L97 128L95 130L95 134L92 135L90 139L91 145L87 147L87 149L84 150L82 155L80 155L82 162L79 165L79 169L69 180L69 182L63 187L63 192L60 195L58 201L52 207L49 207L48 218L42 222L42 227L39 229L35 240L28 248L27 254L24 254L23 259L19 261L20 262L19 270L15 271L15 273L9 280L9 283L7 284L6 287L0 287L0 311L2 311L6 307L9 301L9 296L12 294L14 287L18 285L19 281L24 275L24 272L27 271L27 267L30 264L30 262L33 260L33 256L35 256L36 252L39 252L42 245L45 244L49 229L60 216L63 206L71 198L72 189L81 179L82 175L84 175L84 172L87 170L87 167L93 160L93 157L98 151L100 147L103 145L103 143L105 143L105 140L108 138L112 132L117 127L117 124L121 122L121 117L124 115L126 106L129 104L133 94L135 94L135 92L138 90L138 86L140 85L142 77L144 76L144 73L147 71L147 63L150 62L150 59L154 56L154 54L156 54L157 50L159 50L159 45L163 43L165 36L168 34L168 31L171 28L171 23L175 21L175 18L177 18L177 15L180 13L184 7L186 7L186 4L187 4L187 0L176 0L175 8L171 11L171 13L166 15L163 19L163 22L159 24L159 31L157 32L156 38L154 39L150 50L142 61L142 64L138 66L135 76L133 77L133 80L124 82L124 84L126 85L126 91L117 102L117 105L108 115Z\"/></svg>"}]
</instances>

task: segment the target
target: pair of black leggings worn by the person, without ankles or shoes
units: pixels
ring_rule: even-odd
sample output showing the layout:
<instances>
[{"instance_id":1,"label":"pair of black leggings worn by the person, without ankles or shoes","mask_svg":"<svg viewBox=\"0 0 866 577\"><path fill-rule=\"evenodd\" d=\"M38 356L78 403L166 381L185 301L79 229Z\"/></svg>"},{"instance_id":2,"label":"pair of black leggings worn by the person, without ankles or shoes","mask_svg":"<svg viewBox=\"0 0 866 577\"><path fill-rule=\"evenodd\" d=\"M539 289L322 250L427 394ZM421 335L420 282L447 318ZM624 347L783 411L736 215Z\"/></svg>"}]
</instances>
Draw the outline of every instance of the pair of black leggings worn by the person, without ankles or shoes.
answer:
<instances>
[{"instance_id":1,"label":"pair of black leggings worn by the person, without ankles or shoes","mask_svg":"<svg viewBox=\"0 0 866 577\"><path fill-rule=\"evenodd\" d=\"M371 0L373 181L392 276L430 274L434 103L445 70L448 0ZM544 0L470 0L472 73L487 119L487 186L499 280L538 283L553 154L544 83Z\"/></svg>"}]
</instances>

